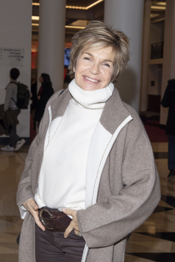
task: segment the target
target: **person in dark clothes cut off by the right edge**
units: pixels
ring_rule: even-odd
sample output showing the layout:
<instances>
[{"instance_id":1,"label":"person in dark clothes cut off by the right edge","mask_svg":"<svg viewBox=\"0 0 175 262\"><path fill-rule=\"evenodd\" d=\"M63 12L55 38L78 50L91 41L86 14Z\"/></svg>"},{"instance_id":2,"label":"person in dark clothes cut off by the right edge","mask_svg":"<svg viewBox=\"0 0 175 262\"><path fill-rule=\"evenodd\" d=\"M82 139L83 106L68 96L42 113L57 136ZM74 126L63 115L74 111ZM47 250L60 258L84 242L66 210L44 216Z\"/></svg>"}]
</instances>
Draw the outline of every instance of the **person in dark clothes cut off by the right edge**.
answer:
<instances>
[{"instance_id":1,"label":"person in dark clothes cut off by the right edge","mask_svg":"<svg viewBox=\"0 0 175 262\"><path fill-rule=\"evenodd\" d=\"M168 109L165 133L168 136L168 178L175 177L175 79L168 81L161 105Z\"/></svg>"}]
</instances>

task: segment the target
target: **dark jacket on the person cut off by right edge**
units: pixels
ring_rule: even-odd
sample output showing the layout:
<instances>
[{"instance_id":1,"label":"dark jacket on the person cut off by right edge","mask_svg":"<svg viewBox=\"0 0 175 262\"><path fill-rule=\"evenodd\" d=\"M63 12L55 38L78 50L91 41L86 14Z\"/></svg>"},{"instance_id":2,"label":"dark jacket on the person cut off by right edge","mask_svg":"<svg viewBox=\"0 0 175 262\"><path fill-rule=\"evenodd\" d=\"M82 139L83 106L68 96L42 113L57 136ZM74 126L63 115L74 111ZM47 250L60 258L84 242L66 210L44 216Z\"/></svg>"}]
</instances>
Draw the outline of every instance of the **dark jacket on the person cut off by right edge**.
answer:
<instances>
[{"instance_id":1,"label":"dark jacket on the person cut off by right edge","mask_svg":"<svg viewBox=\"0 0 175 262\"><path fill-rule=\"evenodd\" d=\"M168 81L161 105L163 107L169 107L165 129L166 135L175 136L175 79Z\"/></svg>"}]
</instances>

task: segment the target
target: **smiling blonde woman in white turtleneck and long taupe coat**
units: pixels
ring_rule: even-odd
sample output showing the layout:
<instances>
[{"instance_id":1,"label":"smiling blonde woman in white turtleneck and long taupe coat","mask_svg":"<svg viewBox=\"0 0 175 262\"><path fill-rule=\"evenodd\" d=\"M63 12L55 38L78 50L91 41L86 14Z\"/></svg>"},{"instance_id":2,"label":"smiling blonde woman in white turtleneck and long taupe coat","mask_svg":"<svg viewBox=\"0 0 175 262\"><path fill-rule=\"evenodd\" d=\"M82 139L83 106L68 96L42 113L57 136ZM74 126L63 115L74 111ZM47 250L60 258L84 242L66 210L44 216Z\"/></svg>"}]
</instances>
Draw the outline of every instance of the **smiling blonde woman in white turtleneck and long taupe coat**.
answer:
<instances>
[{"instance_id":1,"label":"smiling blonde woman in white turtleneck and long taupe coat","mask_svg":"<svg viewBox=\"0 0 175 262\"><path fill-rule=\"evenodd\" d=\"M48 101L18 187L19 261L122 262L127 235L160 200L148 136L113 85L129 40L92 21L73 36L70 56L74 79Z\"/></svg>"}]
</instances>

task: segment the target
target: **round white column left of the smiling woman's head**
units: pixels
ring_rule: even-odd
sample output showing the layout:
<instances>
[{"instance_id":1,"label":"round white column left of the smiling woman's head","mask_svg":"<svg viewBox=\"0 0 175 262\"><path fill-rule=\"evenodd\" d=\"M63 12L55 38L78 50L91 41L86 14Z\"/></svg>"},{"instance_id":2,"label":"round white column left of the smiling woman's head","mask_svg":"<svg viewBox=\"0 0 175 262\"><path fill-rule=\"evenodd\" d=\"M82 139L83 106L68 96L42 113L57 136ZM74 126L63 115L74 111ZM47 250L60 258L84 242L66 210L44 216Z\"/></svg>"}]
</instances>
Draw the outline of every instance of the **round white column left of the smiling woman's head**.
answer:
<instances>
[{"instance_id":1,"label":"round white column left of the smiling woman's head","mask_svg":"<svg viewBox=\"0 0 175 262\"><path fill-rule=\"evenodd\" d=\"M49 74L55 92L64 83L65 5L65 0L40 0L38 77Z\"/></svg>"}]
</instances>

